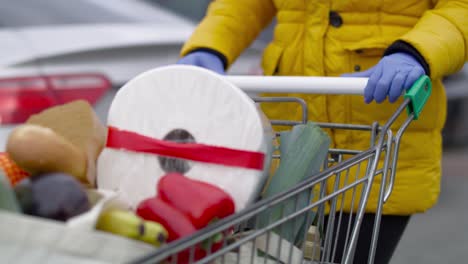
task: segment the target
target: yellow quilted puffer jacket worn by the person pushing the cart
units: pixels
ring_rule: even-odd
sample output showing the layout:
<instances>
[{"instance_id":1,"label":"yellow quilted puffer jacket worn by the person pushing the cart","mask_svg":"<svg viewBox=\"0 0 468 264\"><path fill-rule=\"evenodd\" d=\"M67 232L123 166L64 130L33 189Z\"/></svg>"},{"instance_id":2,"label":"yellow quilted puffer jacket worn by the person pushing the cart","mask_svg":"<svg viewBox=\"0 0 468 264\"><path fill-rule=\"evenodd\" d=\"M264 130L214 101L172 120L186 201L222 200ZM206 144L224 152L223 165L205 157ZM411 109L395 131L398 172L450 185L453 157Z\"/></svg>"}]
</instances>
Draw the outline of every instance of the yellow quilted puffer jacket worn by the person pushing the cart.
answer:
<instances>
[{"instance_id":1,"label":"yellow quilted puffer jacket worn by the person pushing the cart","mask_svg":"<svg viewBox=\"0 0 468 264\"><path fill-rule=\"evenodd\" d=\"M468 0L217 0L181 55L211 48L230 65L275 15L274 39L262 62L266 75L338 76L365 70L396 40L422 54L430 68L433 94L420 120L403 136L396 185L384 214L412 214L433 206L440 189L441 129L446 118L441 77L455 73L467 60ZM309 104L310 120L349 124L384 124L401 103L367 105L359 96L300 96ZM263 109L274 119L295 119L300 113L296 105ZM336 130L331 136L337 148L369 147L369 136L362 132ZM374 184L368 211L375 210L378 188ZM345 207L349 209L350 201Z\"/></svg>"}]
</instances>

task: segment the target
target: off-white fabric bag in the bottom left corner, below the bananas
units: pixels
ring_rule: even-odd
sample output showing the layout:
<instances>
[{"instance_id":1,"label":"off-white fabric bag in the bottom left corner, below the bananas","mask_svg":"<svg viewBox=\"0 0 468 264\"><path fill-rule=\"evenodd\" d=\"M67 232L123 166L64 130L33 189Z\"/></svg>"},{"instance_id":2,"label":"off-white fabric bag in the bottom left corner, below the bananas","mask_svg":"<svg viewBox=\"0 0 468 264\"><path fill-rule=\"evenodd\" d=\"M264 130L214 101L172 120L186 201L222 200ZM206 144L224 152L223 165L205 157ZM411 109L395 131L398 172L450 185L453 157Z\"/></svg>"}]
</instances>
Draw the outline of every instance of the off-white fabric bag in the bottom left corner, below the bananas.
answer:
<instances>
[{"instance_id":1,"label":"off-white fabric bag in the bottom left corner, below the bananas","mask_svg":"<svg viewBox=\"0 0 468 264\"><path fill-rule=\"evenodd\" d=\"M0 210L0 263L128 263L151 244Z\"/></svg>"}]
</instances>

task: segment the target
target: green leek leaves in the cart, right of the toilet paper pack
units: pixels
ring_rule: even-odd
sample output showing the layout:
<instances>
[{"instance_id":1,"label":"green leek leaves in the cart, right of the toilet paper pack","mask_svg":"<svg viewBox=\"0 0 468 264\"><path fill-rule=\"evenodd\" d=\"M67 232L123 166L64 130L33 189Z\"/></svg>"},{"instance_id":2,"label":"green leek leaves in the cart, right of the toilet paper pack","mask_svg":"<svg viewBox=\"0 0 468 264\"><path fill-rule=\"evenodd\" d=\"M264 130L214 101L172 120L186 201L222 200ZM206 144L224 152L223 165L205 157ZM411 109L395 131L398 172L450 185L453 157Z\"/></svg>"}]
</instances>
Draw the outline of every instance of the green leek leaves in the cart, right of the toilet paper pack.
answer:
<instances>
[{"instance_id":1,"label":"green leek leaves in the cart, right of the toilet paper pack","mask_svg":"<svg viewBox=\"0 0 468 264\"><path fill-rule=\"evenodd\" d=\"M291 131L281 132L280 141L281 163L262 193L262 198L278 195L312 175L317 175L328 157L328 149L331 145L329 135L312 122L296 125ZM317 193L315 195L317 196ZM292 214L296 207L306 206L313 198L314 194L306 190L294 199L291 198L285 202L281 207L269 208L260 215L259 226L268 226L281 219L282 215ZM314 212L310 213L311 217L304 214L298 217L296 222L286 223L275 231L291 243L300 245L303 242L305 230L309 228L314 219Z\"/></svg>"}]
</instances>

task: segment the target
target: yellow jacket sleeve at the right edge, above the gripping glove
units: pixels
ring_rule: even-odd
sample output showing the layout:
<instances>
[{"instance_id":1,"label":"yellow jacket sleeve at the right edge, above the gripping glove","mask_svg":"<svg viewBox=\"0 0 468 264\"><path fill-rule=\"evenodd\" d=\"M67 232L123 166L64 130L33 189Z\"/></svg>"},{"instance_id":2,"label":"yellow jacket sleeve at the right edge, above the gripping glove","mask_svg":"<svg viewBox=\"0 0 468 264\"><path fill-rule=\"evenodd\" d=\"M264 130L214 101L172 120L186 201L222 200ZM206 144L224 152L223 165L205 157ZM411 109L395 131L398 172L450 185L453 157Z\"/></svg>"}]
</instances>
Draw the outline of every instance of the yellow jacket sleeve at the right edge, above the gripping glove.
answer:
<instances>
[{"instance_id":1,"label":"yellow jacket sleeve at the right edge, above the gripping glove","mask_svg":"<svg viewBox=\"0 0 468 264\"><path fill-rule=\"evenodd\" d=\"M468 59L468 0L439 0L400 38L428 63L433 79L460 70Z\"/></svg>"}]
</instances>

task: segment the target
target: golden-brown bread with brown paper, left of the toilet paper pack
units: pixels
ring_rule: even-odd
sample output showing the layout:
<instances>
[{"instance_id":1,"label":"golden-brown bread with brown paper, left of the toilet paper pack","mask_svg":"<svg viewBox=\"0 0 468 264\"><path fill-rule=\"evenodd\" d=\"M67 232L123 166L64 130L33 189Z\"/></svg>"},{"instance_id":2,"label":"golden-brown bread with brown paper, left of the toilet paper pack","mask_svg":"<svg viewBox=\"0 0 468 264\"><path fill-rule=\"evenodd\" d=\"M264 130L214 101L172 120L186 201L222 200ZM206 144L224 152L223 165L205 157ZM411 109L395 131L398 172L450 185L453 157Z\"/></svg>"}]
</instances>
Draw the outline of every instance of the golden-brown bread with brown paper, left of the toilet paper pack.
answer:
<instances>
[{"instance_id":1,"label":"golden-brown bread with brown paper, left of the toilet paper pack","mask_svg":"<svg viewBox=\"0 0 468 264\"><path fill-rule=\"evenodd\" d=\"M92 187L105 138L92 106L77 100L32 115L10 134L7 153L32 174L68 173Z\"/></svg>"}]
</instances>

